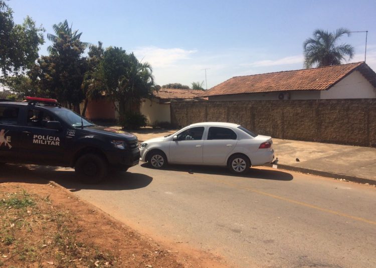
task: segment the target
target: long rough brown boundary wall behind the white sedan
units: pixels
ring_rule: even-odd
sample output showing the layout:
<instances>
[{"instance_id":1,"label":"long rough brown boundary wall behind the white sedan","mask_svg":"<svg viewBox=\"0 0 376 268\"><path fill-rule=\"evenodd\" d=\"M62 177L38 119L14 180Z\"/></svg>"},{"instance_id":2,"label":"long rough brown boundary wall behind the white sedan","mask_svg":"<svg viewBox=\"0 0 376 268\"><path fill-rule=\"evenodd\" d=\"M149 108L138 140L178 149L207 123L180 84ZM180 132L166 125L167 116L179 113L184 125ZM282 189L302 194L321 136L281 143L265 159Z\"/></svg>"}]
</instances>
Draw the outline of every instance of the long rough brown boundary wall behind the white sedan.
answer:
<instances>
[{"instance_id":1,"label":"long rough brown boundary wall behind the white sedan","mask_svg":"<svg viewBox=\"0 0 376 268\"><path fill-rule=\"evenodd\" d=\"M171 122L234 122L276 138L376 147L376 99L173 101Z\"/></svg>"}]
</instances>

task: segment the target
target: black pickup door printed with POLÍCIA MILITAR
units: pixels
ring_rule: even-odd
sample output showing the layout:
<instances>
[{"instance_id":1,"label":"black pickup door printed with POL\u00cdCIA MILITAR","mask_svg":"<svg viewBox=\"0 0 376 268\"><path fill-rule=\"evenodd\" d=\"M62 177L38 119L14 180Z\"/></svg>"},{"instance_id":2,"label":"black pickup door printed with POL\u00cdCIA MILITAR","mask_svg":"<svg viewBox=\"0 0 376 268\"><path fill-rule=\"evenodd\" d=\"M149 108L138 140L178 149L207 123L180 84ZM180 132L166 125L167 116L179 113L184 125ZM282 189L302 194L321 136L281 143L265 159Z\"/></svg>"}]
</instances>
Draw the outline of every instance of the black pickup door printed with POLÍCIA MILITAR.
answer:
<instances>
[{"instance_id":1,"label":"black pickup door printed with POL\u00cdCIA MILITAR","mask_svg":"<svg viewBox=\"0 0 376 268\"><path fill-rule=\"evenodd\" d=\"M45 127L47 121L59 120L47 109L27 107L21 132L23 162L38 164L63 164L66 148L66 131Z\"/></svg>"}]
</instances>

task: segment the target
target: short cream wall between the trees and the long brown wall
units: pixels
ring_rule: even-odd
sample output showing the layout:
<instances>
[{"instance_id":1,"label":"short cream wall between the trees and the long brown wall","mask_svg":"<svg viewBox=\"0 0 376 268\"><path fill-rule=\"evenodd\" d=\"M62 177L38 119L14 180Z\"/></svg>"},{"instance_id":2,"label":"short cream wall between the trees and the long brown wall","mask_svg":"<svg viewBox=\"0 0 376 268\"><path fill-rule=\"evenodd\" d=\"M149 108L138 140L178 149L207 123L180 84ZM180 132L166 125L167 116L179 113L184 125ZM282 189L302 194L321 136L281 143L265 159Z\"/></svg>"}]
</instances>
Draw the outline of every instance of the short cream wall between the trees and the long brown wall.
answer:
<instances>
[{"instance_id":1,"label":"short cream wall between the trees and the long brown wall","mask_svg":"<svg viewBox=\"0 0 376 268\"><path fill-rule=\"evenodd\" d=\"M148 124L155 121L171 122L170 104L160 104L158 99L143 99L140 104L140 112L147 118Z\"/></svg>"}]
</instances>

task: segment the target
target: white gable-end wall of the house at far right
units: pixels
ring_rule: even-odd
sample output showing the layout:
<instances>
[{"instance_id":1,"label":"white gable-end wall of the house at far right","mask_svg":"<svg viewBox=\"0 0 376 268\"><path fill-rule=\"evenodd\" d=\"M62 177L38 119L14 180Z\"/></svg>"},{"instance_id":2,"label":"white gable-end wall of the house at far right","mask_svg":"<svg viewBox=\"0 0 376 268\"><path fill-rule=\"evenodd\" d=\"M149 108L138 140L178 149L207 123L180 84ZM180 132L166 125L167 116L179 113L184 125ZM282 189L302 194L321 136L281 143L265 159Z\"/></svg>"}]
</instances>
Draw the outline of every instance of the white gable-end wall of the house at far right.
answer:
<instances>
[{"instance_id":1,"label":"white gable-end wall of the house at far right","mask_svg":"<svg viewBox=\"0 0 376 268\"><path fill-rule=\"evenodd\" d=\"M376 89L356 70L328 90L322 90L320 98L376 98Z\"/></svg>"}]
</instances>

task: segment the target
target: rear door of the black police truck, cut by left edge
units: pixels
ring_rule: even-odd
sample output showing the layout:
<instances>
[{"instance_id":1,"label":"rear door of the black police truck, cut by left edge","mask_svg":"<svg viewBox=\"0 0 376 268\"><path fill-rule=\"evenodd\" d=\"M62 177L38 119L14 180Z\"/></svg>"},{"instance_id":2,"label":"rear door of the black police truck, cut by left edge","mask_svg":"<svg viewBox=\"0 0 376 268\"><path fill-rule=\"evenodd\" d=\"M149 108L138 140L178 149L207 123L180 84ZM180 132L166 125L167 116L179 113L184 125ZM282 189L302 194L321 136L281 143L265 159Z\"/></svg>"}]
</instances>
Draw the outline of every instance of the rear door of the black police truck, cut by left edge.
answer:
<instances>
[{"instance_id":1,"label":"rear door of the black police truck, cut by left edge","mask_svg":"<svg viewBox=\"0 0 376 268\"><path fill-rule=\"evenodd\" d=\"M20 153L20 107L0 104L0 161L17 162Z\"/></svg>"}]
</instances>

